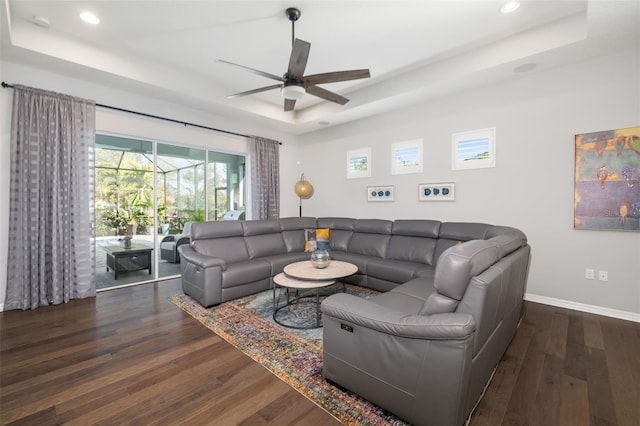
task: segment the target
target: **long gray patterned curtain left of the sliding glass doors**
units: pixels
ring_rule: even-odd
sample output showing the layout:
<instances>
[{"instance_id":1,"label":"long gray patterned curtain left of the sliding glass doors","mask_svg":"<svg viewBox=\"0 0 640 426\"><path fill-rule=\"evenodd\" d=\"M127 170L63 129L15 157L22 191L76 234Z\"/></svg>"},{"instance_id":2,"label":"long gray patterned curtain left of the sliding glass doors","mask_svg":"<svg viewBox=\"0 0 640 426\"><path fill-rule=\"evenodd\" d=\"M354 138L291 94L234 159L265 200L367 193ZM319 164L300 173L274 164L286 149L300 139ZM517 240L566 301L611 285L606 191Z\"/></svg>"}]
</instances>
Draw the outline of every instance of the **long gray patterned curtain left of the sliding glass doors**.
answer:
<instances>
[{"instance_id":1,"label":"long gray patterned curtain left of the sliding glass doors","mask_svg":"<svg viewBox=\"0 0 640 426\"><path fill-rule=\"evenodd\" d=\"M95 103L15 86L5 309L95 296Z\"/></svg>"}]
</instances>

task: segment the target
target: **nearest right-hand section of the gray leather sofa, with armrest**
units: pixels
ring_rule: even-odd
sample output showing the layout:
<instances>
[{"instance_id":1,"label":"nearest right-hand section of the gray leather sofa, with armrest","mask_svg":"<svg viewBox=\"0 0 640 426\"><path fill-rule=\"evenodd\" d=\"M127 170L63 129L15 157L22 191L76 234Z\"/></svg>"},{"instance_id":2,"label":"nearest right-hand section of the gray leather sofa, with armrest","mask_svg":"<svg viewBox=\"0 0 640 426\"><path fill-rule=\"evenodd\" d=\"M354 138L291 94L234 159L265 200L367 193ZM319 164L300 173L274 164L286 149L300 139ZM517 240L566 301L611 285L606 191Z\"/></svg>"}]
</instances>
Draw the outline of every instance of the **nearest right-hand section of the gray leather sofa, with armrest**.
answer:
<instances>
[{"instance_id":1,"label":"nearest right-hand section of the gray leather sofa, with armrest","mask_svg":"<svg viewBox=\"0 0 640 426\"><path fill-rule=\"evenodd\" d=\"M464 424L513 338L529 262L524 234L485 231L499 235L451 245L433 277L329 296L325 377L412 424Z\"/></svg>"}]
</instances>

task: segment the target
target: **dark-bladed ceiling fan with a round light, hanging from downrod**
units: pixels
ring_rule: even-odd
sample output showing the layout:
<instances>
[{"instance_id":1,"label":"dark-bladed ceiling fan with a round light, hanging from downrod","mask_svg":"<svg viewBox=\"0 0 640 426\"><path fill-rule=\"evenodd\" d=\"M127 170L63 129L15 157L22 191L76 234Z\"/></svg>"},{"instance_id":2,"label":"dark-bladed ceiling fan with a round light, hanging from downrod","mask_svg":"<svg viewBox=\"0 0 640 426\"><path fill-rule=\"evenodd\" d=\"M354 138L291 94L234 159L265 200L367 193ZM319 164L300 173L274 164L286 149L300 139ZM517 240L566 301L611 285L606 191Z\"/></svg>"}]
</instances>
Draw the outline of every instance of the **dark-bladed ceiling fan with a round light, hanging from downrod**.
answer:
<instances>
[{"instance_id":1,"label":"dark-bladed ceiling fan with a round light, hanging from downrod","mask_svg":"<svg viewBox=\"0 0 640 426\"><path fill-rule=\"evenodd\" d=\"M260 71L244 65L234 64L233 62L219 59L220 62L242 68L254 74L279 81L278 84L272 86L260 87L258 89L248 90L227 96L227 98L237 98L240 96L253 95L255 93L266 92L268 90L280 89L284 97L284 110L293 111L296 100L302 98L305 93L317 96L327 101L344 105L349 99L337 93L318 87L318 84L336 83L339 81L358 80L361 78L369 78L371 74L368 69L334 71L322 74L304 75L304 69L309 59L309 50L311 43L295 38L295 23L300 18L300 10L290 7L285 11L287 18L291 21L291 40L293 47L291 49L291 57L289 58L289 68L282 76L277 76L268 72Z\"/></svg>"}]
</instances>

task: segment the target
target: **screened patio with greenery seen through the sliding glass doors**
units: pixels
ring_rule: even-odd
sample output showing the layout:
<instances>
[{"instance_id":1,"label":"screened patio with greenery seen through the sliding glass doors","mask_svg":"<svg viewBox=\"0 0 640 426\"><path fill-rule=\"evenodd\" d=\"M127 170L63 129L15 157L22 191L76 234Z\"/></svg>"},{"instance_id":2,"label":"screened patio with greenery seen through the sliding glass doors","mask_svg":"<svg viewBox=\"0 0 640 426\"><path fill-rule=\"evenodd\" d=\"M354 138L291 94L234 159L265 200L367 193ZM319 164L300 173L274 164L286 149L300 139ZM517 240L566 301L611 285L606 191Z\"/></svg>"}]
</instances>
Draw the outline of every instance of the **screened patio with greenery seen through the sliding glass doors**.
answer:
<instances>
[{"instance_id":1,"label":"screened patio with greenery seen through the sliding glass doors","mask_svg":"<svg viewBox=\"0 0 640 426\"><path fill-rule=\"evenodd\" d=\"M179 275L179 256L162 243L187 222L244 210L245 169L243 155L96 135L97 287Z\"/></svg>"}]
</instances>

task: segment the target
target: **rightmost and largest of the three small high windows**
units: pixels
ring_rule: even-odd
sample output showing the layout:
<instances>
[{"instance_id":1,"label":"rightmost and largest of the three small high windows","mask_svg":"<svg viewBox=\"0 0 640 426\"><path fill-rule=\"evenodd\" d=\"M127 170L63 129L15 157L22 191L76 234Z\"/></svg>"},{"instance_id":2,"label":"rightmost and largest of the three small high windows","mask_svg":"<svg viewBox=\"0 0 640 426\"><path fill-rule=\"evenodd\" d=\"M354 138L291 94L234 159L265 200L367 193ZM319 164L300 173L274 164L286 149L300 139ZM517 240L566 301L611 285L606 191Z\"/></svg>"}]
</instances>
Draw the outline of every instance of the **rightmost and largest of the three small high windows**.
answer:
<instances>
[{"instance_id":1,"label":"rightmost and largest of the three small high windows","mask_svg":"<svg viewBox=\"0 0 640 426\"><path fill-rule=\"evenodd\" d=\"M451 135L451 168L480 169L496 166L496 128Z\"/></svg>"}]
</instances>

